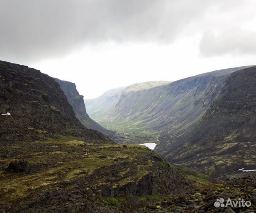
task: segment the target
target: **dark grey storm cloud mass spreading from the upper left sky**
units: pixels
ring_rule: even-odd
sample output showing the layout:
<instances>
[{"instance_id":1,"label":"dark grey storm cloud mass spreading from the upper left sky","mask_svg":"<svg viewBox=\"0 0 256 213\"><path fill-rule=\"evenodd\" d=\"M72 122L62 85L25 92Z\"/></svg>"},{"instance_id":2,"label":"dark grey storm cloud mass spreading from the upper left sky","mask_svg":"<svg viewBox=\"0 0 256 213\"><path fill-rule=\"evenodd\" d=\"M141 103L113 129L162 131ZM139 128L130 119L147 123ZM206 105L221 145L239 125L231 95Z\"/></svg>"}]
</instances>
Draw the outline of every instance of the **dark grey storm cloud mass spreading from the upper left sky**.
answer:
<instances>
[{"instance_id":1,"label":"dark grey storm cloud mass spreading from the upper left sky","mask_svg":"<svg viewBox=\"0 0 256 213\"><path fill-rule=\"evenodd\" d=\"M107 40L171 43L181 33L188 34L186 26L203 19L208 8L230 7L222 2L0 0L0 57L32 62ZM232 5L240 4L237 2L241 1L233 0Z\"/></svg>"}]
</instances>

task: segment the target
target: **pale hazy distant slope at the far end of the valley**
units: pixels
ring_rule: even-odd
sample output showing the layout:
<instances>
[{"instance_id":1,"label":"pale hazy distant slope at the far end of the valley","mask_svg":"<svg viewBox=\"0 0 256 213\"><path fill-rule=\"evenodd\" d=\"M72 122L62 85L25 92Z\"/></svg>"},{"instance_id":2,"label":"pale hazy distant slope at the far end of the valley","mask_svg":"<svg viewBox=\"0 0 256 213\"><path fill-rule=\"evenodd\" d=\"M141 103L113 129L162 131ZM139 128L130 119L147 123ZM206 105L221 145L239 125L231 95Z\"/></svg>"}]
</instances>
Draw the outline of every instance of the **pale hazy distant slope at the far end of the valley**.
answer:
<instances>
[{"instance_id":1,"label":"pale hazy distant slope at the far end of the valley","mask_svg":"<svg viewBox=\"0 0 256 213\"><path fill-rule=\"evenodd\" d=\"M90 117L95 121L104 119L111 108L115 107L125 88L126 86L111 89L100 97L85 100L85 106Z\"/></svg>"}]
</instances>

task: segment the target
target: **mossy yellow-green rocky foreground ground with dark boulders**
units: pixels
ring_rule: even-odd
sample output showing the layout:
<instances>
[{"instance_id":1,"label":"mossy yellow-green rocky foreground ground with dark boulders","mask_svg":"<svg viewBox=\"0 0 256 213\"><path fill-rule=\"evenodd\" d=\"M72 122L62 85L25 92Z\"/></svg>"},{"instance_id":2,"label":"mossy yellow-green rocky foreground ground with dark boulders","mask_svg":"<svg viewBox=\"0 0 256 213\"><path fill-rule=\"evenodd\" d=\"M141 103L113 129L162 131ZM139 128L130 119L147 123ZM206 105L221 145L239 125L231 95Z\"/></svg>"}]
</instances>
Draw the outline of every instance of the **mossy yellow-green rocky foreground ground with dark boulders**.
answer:
<instances>
[{"instance_id":1,"label":"mossy yellow-green rocky foreground ground with dark boulders","mask_svg":"<svg viewBox=\"0 0 256 213\"><path fill-rule=\"evenodd\" d=\"M0 212L245 213L256 210L256 176L211 179L145 146L61 136L1 143ZM214 206L239 198L251 207Z\"/></svg>"}]
</instances>

